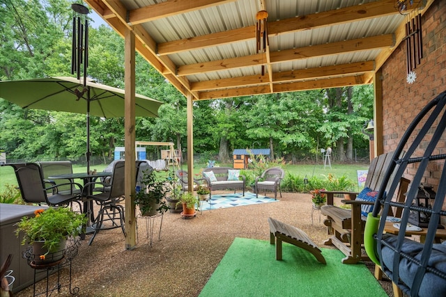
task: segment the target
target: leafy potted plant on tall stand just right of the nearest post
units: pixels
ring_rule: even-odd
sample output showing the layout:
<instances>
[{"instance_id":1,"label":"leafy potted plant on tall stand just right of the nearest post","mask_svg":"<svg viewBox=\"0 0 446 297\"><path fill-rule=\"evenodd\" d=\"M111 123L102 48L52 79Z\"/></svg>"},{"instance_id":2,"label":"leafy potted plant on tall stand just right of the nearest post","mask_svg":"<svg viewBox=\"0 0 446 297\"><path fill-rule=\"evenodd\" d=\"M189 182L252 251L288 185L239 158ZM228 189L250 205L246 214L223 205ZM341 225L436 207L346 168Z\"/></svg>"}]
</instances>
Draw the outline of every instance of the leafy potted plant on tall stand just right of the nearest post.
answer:
<instances>
[{"instance_id":1,"label":"leafy potted plant on tall stand just right of the nearest post","mask_svg":"<svg viewBox=\"0 0 446 297\"><path fill-rule=\"evenodd\" d=\"M139 206L141 216L164 214L169 210L166 204L167 195L171 191L169 179L158 177L155 170L146 170L139 182L141 188L137 188L134 204Z\"/></svg>"}]
</instances>

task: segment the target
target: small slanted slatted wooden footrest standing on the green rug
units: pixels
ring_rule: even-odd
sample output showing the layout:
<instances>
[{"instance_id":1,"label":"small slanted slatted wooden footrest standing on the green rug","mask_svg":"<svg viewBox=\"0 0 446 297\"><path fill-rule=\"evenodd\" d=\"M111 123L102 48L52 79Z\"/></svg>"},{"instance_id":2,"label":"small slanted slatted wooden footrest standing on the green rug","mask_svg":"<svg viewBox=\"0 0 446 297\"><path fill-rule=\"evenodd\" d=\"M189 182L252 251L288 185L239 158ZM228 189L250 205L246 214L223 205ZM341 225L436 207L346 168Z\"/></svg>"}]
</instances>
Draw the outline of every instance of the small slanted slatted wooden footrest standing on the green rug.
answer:
<instances>
[{"instance_id":1,"label":"small slanted slatted wooden footrest standing on the green rug","mask_svg":"<svg viewBox=\"0 0 446 297\"><path fill-rule=\"evenodd\" d=\"M321 250L302 230L282 223L274 218L268 218L270 224L270 243L276 245L276 260L282 260L282 241L311 252L322 264L327 264Z\"/></svg>"}]
</instances>

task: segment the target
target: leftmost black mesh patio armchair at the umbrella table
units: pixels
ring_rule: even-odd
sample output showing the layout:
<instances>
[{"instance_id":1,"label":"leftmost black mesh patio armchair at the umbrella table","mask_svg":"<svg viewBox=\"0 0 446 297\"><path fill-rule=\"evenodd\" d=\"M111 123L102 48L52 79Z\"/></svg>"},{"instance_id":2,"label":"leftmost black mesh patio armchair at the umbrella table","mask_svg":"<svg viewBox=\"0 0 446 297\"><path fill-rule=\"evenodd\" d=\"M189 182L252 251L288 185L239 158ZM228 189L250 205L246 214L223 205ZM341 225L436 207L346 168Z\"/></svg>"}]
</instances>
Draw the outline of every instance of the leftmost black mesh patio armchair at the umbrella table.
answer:
<instances>
[{"instance_id":1,"label":"leftmost black mesh patio armchair at the umbrella table","mask_svg":"<svg viewBox=\"0 0 446 297\"><path fill-rule=\"evenodd\" d=\"M49 206L65 206L77 202L82 212L80 202L82 185L75 182L52 184L43 179L42 169L36 163L10 163L14 168L22 199L27 203L47 204ZM59 191L59 187L68 186L73 191Z\"/></svg>"}]
</instances>

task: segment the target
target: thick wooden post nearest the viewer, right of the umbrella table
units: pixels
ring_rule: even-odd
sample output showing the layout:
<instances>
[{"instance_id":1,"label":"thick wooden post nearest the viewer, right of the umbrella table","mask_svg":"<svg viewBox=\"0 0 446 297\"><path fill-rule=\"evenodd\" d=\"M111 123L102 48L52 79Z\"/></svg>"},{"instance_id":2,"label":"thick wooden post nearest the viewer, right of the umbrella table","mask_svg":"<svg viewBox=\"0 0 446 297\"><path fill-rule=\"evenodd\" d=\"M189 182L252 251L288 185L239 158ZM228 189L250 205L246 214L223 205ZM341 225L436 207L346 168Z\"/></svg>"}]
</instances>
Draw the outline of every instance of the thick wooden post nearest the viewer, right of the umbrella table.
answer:
<instances>
[{"instance_id":1,"label":"thick wooden post nearest the viewer, right of the umbrella table","mask_svg":"<svg viewBox=\"0 0 446 297\"><path fill-rule=\"evenodd\" d=\"M134 74L134 33L125 29L124 39L125 65L125 249L132 250L136 246L136 220L134 213L134 195L136 185L135 156L135 74Z\"/></svg>"}]
</instances>

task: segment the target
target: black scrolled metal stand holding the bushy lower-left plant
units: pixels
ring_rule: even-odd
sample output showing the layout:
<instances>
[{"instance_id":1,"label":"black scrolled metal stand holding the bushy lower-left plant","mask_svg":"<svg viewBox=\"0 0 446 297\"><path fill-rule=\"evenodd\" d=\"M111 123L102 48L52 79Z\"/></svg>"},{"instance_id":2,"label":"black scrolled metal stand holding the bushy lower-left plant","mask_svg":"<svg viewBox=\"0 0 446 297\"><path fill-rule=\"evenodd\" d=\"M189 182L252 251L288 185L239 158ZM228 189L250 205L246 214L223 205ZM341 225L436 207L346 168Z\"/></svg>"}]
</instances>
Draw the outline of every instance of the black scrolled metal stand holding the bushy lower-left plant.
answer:
<instances>
[{"instance_id":1,"label":"black scrolled metal stand holding the bushy lower-left plant","mask_svg":"<svg viewBox=\"0 0 446 297\"><path fill-rule=\"evenodd\" d=\"M70 294L76 295L79 293L79 287L72 287L71 284L71 272L72 272L72 259L77 255L77 250L80 246L80 238L76 239L68 239L66 249L63 250L63 257L62 259L59 259L56 262L47 263L47 264L41 264L38 265L34 262L34 259L36 257L39 257L39 255L33 254L33 247L29 246L24 250L22 257L26 259L28 262L28 265L34 269L34 283L33 283L33 296L40 296L45 294L45 296L51 296L53 291L57 291L58 293L61 291L62 287L68 287ZM62 268L68 268L68 284L62 285L61 284L61 269ZM49 275L57 272L57 281L56 284L52 288L49 287ZM45 291L42 291L40 293L36 294L36 280L38 278L38 275L46 273L46 289Z\"/></svg>"}]
</instances>

